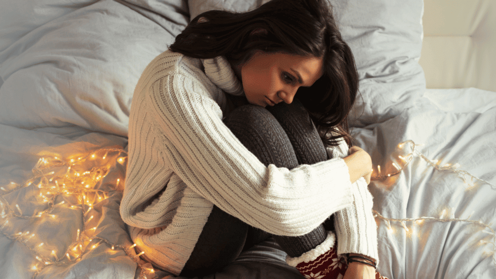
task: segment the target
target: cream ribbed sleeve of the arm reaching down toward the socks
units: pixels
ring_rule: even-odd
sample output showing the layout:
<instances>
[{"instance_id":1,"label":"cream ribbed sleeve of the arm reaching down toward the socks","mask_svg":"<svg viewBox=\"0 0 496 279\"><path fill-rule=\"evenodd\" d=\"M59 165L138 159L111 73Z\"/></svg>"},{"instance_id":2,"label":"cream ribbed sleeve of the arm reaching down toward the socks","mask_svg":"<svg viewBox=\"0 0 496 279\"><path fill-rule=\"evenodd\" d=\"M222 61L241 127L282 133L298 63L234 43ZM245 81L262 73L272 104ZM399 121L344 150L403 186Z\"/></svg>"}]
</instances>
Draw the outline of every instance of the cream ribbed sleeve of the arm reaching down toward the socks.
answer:
<instances>
[{"instance_id":1,"label":"cream ribbed sleeve of the arm reaching down toward the socks","mask_svg":"<svg viewBox=\"0 0 496 279\"><path fill-rule=\"evenodd\" d=\"M377 224L372 214L372 195L363 177L353 183L352 188L352 205L335 214L337 254L362 254L378 263Z\"/></svg>"}]
</instances>

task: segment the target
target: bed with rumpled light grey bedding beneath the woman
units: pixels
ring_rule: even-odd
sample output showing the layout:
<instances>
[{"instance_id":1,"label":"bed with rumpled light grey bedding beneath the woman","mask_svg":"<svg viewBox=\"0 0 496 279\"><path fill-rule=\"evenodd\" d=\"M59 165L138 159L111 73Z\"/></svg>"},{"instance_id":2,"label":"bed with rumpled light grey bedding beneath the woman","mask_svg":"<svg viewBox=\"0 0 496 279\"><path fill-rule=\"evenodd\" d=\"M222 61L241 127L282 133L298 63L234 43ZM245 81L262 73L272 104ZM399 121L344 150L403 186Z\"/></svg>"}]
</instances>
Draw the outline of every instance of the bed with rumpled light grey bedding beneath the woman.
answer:
<instances>
[{"instance_id":1,"label":"bed with rumpled light grey bedding beneath the woman","mask_svg":"<svg viewBox=\"0 0 496 279\"><path fill-rule=\"evenodd\" d=\"M134 86L190 18L265 1L2 2L1 278L174 278L119 215ZM495 1L330 2L360 74L381 275L496 278ZM205 279L303 278L284 258L268 240Z\"/></svg>"}]
</instances>

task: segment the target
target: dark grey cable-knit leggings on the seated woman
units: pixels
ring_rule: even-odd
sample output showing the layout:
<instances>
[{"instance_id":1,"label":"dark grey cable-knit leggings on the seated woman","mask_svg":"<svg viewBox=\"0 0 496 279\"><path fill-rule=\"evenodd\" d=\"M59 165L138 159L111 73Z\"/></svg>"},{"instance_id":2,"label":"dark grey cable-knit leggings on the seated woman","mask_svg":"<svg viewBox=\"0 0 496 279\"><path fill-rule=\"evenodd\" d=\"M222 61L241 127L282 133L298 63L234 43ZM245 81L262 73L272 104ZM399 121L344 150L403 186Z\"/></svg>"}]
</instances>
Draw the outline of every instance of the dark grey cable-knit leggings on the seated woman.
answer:
<instances>
[{"instance_id":1,"label":"dark grey cable-knit leggings on the seated woman","mask_svg":"<svg viewBox=\"0 0 496 279\"><path fill-rule=\"evenodd\" d=\"M327 159L322 140L297 99L290 105L282 102L267 108L243 105L229 114L224 123L265 165L292 169ZM271 235L214 206L181 276L204 276L220 271L243 250L270 236L289 256L298 257L322 243L326 230L332 229L331 216L306 235Z\"/></svg>"}]
</instances>

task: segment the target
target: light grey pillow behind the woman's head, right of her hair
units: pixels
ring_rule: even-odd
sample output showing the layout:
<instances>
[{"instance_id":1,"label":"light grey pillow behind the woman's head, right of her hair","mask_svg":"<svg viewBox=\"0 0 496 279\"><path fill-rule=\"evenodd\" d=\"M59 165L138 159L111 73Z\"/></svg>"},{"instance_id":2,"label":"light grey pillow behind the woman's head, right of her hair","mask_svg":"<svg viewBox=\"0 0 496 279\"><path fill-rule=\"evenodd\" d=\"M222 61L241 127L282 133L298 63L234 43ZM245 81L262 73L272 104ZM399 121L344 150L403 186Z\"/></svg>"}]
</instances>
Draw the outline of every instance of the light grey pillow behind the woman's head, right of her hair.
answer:
<instances>
[{"instance_id":1,"label":"light grey pillow behind the woman's head, right of her hair","mask_svg":"<svg viewBox=\"0 0 496 279\"><path fill-rule=\"evenodd\" d=\"M267 0L188 0L191 18L210 9L247 11ZM411 107L426 88L418 64L422 49L423 0L328 0L352 49L362 96L351 126L390 119ZM363 99L362 99L363 98Z\"/></svg>"}]
</instances>

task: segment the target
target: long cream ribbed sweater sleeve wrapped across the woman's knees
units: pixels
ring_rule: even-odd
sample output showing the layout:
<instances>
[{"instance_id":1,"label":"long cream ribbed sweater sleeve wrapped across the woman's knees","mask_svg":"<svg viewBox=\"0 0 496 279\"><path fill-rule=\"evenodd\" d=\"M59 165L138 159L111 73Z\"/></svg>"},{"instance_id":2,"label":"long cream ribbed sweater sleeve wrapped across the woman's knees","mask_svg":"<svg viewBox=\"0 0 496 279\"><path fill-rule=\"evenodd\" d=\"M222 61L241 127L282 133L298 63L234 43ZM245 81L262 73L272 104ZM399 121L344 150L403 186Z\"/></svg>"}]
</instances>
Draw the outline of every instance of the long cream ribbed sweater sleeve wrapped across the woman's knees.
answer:
<instances>
[{"instance_id":1,"label":"long cream ribbed sweater sleeve wrapped across the woman's knees","mask_svg":"<svg viewBox=\"0 0 496 279\"><path fill-rule=\"evenodd\" d=\"M200 83L175 73L148 90L161 152L188 187L227 213L272 234L297 236L353 201L343 159L266 167L224 125Z\"/></svg>"}]
</instances>

